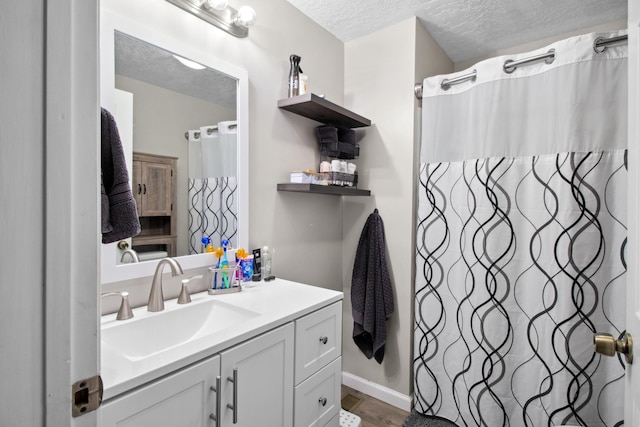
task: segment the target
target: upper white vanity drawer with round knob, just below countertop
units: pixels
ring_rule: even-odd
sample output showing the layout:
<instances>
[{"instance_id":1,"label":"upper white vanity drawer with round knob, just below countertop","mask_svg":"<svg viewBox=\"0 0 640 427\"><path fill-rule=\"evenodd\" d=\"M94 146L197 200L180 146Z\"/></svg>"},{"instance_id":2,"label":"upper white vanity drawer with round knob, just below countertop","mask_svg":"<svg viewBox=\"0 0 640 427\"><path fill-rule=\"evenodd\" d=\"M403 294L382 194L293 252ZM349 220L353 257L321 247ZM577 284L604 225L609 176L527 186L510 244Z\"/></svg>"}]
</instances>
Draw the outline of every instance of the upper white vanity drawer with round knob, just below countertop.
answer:
<instances>
[{"instance_id":1,"label":"upper white vanity drawer with round knob, just below countertop","mask_svg":"<svg viewBox=\"0 0 640 427\"><path fill-rule=\"evenodd\" d=\"M342 301L296 320L295 383L342 354Z\"/></svg>"}]
</instances>

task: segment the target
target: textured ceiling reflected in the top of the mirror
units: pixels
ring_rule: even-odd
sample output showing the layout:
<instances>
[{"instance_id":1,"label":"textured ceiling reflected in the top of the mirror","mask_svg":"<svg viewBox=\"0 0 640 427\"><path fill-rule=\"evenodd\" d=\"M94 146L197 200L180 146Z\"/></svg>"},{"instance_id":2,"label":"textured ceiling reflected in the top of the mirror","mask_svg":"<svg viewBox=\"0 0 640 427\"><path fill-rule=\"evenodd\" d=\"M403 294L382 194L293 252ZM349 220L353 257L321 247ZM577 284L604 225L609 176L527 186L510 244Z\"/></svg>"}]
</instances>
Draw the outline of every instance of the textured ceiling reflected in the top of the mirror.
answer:
<instances>
[{"instance_id":1,"label":"textured ceiling reflected in the top of the mirror","mask_svg":"<svg viewBox=\"0 0 640 427\"><path fill-rule=\"evenodd\" d=\"M171 52L119 32L114 41L116 74L235 110L235 79L210 68L185 67Z\"/></svg>"}]
</instances>

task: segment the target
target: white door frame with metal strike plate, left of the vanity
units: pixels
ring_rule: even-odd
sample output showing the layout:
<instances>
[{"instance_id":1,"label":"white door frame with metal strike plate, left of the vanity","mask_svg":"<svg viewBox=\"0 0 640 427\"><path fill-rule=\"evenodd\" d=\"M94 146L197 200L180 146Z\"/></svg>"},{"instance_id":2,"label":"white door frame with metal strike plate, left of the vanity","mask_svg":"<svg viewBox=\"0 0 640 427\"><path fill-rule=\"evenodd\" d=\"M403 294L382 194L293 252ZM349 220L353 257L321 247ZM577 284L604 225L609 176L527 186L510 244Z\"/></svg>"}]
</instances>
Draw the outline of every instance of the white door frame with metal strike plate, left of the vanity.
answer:
<instances>
[{"instance_id":1,"label":"white door frame with metal strike plate, left of the vanity","mask_svg":"<svg viewBox=\"0 0 640 427\"><path fill-rule=\"evenodd\" d=\"M45 394L40 395L46 399L47 427L93 427L99 424L92 404L100 396L99 383L92 381L98 374L100 333L98 0L60 0L49 6L42 236Z\"/></svg>"}]
</instances>

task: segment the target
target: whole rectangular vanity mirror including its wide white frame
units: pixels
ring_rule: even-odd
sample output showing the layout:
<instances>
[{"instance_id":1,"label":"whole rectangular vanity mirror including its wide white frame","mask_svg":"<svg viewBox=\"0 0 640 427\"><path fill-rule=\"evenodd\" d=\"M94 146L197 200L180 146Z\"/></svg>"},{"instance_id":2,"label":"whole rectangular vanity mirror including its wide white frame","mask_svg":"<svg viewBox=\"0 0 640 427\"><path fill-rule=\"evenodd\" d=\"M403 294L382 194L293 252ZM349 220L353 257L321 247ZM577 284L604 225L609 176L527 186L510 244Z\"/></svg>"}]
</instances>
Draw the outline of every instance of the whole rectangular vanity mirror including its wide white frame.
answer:
<instances>
[{"instance_id":1,"label":"whole rectangular vanity mirror including its wide white frame","mask_svg":"<svg viewBox=\"0 0 640 427\"><path fill-rule=\"evenodd\" d=\"M139 263L101 245L102 283L150 276L164 256L212 265L202 236L247 247L246 71L104 10L100 56L101 103L118 123L142 227L127 241Z\"/></svg>"}]
</instances>

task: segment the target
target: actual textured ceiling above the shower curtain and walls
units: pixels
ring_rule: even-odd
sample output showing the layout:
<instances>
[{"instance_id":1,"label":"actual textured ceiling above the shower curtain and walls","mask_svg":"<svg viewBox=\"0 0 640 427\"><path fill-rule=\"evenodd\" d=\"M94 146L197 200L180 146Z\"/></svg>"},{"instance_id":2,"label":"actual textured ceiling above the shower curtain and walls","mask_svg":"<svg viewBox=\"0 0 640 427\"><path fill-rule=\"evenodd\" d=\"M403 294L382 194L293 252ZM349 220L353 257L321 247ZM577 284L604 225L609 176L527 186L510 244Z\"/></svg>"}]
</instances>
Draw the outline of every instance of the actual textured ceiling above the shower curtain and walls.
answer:
<instances>
[{"instance_id":1,"label":"actual textured ceiling above the shower curtain and walls","mask_svg":"<svg viewBox=\"0 0 640 427\"><path fill-rule=\"evenodd\" d=\"M287 1L343 42L417 16L453 62L627 17L627 0Z\"/></svg>"}]
</instances>

